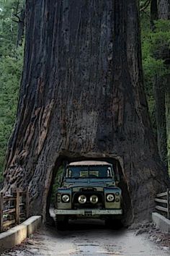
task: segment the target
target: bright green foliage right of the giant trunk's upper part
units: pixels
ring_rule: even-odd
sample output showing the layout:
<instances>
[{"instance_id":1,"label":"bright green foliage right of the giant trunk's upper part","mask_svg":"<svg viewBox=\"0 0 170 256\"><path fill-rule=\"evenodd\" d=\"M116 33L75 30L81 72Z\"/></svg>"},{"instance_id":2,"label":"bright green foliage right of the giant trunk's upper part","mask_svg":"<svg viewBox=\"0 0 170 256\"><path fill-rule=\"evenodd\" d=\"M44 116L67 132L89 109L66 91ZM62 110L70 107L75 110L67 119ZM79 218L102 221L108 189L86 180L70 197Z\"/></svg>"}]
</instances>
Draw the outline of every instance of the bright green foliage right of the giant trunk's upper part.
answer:
<instances>
[{"instance_id":1,"label":"bright green foliage right of the giant trunk's upper part","mask_svg":"<svg viewBox=\"0 0 170 256\"><path fill-rule=\"evenodd\" d=\"M142 25L142 53L143 71L146 82L147 95L153 95L153 77L170 74L170 70L164 65L164 53L170 48L170 21L158 20L155 22L155 30L151 31L148 17L143 17ZM146 29L146 24L149 29Z\"/></svg>"}]
</instances>

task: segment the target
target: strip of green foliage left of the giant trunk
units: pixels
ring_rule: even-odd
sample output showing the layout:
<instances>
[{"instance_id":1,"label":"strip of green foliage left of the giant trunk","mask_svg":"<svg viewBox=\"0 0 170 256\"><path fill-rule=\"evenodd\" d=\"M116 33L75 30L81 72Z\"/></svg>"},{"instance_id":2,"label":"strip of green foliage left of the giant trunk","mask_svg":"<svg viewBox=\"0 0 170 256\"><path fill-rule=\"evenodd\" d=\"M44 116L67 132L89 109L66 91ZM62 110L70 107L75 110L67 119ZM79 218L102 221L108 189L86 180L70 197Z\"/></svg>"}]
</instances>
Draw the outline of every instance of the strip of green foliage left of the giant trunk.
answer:
<instances>
[{"instance_id":1,"label":"strip of green foliage left of the giant trunk","mask_svg":"<svg viewBox=\"0 0 170 256\"><path fill-rule=\"evenodd\" d=\"M12 20L16 4L14 0L0 1L0 181L17 111L23 64L24 47L16 48L17 22Z\"/></svg>"}]
</instances>

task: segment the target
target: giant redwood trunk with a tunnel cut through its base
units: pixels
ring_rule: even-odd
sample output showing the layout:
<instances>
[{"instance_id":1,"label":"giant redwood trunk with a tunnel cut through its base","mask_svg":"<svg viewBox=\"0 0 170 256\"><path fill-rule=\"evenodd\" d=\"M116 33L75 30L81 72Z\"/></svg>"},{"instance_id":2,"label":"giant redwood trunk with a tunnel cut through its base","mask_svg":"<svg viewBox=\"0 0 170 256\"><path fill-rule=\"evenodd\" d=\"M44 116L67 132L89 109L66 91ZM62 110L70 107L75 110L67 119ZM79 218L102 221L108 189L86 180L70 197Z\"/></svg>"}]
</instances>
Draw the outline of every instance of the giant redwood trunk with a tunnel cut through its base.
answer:
<instances>
[{"instance_id":1,"label":"giant redwood trunk with a tunnel cut through its base","mask_svg":"<svg viewBox=\"0 0 170 256\"><path fill-rule=\"evenodd\" d=\"M30 214L45 216L61 159L120 161L129 223L148 218L168 184L143 90L137 2L27 0L4 189L28 187Z\"/></svg>"}]
</instances>

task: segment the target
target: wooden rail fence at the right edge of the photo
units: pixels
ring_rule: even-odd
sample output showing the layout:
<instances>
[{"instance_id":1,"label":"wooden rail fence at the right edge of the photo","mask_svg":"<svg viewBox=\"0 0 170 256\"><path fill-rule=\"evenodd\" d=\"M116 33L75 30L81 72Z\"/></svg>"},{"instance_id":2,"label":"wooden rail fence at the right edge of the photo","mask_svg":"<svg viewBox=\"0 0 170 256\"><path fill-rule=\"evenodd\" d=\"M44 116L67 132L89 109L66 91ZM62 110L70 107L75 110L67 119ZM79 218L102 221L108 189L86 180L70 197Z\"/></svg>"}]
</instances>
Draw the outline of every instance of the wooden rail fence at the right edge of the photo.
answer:
<instances>
[{"instance_id":1,"label":"wooden rail fence at the right edge of the photo","mask_svg":"<svg viewBox=\"0 0 170 256\"><path fill-rule=\"evenodd\" d=\"M156 210L161 212L166 218L170 219L170 189L156 195Z\"/></svg>"}]
</instances>

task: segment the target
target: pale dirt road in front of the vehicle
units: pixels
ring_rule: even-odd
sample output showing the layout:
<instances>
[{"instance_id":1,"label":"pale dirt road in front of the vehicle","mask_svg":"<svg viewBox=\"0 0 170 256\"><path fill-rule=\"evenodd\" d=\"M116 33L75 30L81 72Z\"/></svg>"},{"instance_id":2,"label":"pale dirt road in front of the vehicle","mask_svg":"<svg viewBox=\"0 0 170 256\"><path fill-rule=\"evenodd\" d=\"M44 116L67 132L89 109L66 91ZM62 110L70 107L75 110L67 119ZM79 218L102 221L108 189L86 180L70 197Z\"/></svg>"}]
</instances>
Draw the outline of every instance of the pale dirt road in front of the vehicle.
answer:
<instances>
[{"instance_id":1,"label":"pale dirt road in front of the vehicle","mask_svg":"<svg viewBox=\"0 0 170 256\"><path fill-rule=\"evenodd\" d=\"M75 222L68 226L68 231L61 233L55 229L41 229L27 242L1 256L170 255L168 247L157 244L151 242L146 234L135 236L132 230L106 229L102 222Z\"/></svg>"}]
</instances>

